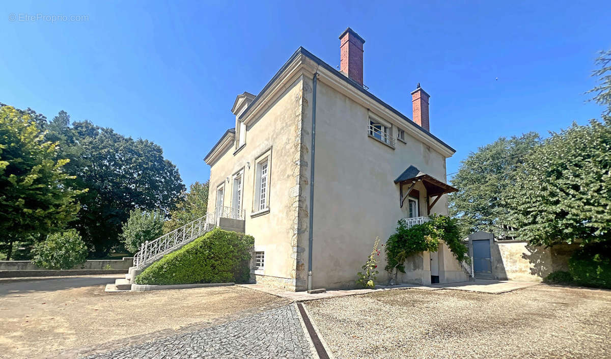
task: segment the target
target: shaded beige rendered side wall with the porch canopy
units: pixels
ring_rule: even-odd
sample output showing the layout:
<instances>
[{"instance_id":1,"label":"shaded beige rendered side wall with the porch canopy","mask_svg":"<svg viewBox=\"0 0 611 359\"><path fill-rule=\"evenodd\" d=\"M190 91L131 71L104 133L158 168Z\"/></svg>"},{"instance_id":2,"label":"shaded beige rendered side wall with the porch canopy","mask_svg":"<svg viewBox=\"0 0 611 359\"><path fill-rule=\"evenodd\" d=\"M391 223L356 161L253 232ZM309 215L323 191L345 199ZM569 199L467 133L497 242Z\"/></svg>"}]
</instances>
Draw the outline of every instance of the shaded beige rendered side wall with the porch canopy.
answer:
<instances>
[{"instance_id":1,"label":"shaded beige rendered side wall with the porch canopy","mask_svg":"<svg viewBox=\"0 0 611 359\"><path fill-rule=\"evenodd\" d=\"M406 95L406 101L410 99ZM408 217L406 206L399 207L399 189L393 181L409 165L445 181L444 156L409 136L408 131L406 143L397 140L393 150L367 136L368 118L367 108L318 82L313 288L355 285L356 272L371 253L376 236L383 244L397 227L397 220ZM404 129L408 126L405 123ZM396 131L393 127L393 137ZM425 189L422 183L415 189L420 190L420 215L426 216ZM447 214L447 198L437 201L431 212ZM440 259L451 269L453 264L447 257L443 252ZM378 281L384 283L389 276L384 271L383 251L378 259ZM408 273L399 280L430 281L430 273L425 273L429 261L428 253L414 256L406 263Z\"/></svg>"}]
</instances>

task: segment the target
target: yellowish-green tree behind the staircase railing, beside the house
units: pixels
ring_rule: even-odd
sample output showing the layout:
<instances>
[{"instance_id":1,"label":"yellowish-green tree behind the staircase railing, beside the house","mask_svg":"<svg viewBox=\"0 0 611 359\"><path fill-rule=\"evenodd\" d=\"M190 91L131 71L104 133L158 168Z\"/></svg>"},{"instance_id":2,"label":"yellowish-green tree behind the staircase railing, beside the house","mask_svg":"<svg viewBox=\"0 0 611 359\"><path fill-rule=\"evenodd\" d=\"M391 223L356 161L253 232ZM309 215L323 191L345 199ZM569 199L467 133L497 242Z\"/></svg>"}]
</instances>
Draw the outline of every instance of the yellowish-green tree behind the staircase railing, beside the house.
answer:
<instances>
[{"instance_id":1,"label":"yellowish-green tree behind the staircase railing, beside the house","mask_svg":"<svg viewBox=\"0 0 611 359\"><path fill-rule=\"evenodd\" d=\"M193 183L189 188L189 192L183 194L176 209L170 212L170 219L164 223L164 231L175 230L182 227L186 223L196 220L206 215L208 211L208 190L210 183Z\"/></svg>"}]
</instances>

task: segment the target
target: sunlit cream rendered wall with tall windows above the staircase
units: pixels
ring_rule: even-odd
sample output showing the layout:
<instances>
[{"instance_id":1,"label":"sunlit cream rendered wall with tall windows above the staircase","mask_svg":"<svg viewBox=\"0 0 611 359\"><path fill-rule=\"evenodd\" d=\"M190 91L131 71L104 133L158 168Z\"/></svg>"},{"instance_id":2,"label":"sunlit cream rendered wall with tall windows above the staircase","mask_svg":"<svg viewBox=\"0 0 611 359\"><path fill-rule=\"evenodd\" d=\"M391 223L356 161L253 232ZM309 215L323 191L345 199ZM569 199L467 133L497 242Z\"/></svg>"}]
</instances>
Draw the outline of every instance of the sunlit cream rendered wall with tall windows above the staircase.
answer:
<instances>
[{"instance_id":1,"label":"sunlit cream rendered wall with tall windows above the staircase","mask_svg":"<svg viewBox=\"0 0 611 359\"><path fill-rule=\"evenodd\" d=\"M216 204L216 189L224 183L224 206L232 206L232 176L244 170L243 208L246 209L245 231L255 238L255 250L265 251L265 269L257 271L257 283L295 290L304 288L305 272L302 263L304 249L298 243L296 230L298 211L305 204L299 198L306 184L299 184L301 166L302 90L300 78L291 82L271 106L249 123L246 146L235 155L230 146L222 157L211 165L210 211ZM229 122L228 122L229 125ZM266 151L271 152L269 170L269 213L251 217L256 212L255 160ZM248 167L247 162L250 163ZM229 181L226 179L229 178Z\"/></svg>"}]
</instances>

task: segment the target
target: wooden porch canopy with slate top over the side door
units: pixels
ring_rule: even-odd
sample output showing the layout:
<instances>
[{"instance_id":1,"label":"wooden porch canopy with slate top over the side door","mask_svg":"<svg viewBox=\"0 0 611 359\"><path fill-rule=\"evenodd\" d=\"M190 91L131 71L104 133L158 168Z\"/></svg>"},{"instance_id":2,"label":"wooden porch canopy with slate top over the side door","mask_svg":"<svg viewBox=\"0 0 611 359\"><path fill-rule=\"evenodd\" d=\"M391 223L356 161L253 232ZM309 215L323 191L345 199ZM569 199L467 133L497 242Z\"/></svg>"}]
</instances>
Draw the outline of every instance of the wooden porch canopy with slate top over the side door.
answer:
<instances>
[{"instance_id":1,"label":"wooden porch canopy with slate top over the side door","mask_svg":"<svg viewBox=\"0 0 611 359\"><path fill-rule=\"evenodd\" d=\"M441 195L458 192L458 189L450 186L447 183L443 183L442 181L437 180L431 175L427 175L424 172L421 172L419 169L410 165L406 170L401 173L395 180L395 183L399 185L399 207L403 207L403 202L405 198L408 198L409 193L414 189L416 183L422 181L422 184L426 188L426 212L427 214L431 213L431 208L437 203ZM403 186L408 185L408 191L403 195ZM431 202L431 199L433 202Z\"/></svg>"}]
</instances>

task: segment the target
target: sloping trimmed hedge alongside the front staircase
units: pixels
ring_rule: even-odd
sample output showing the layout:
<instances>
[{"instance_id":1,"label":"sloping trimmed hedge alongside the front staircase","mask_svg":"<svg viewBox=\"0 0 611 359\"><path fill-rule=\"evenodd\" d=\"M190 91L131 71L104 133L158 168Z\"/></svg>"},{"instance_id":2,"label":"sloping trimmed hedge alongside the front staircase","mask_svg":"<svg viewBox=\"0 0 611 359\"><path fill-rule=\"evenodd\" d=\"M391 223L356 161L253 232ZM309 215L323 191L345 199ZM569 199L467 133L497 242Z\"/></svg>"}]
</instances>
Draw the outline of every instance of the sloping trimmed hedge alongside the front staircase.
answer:
<instances>
[{"instance_id":1,"label":"sloping trimmed hedge alongside the front staircase","mask_svg":"<svg viewBox=\"0 0 611 359\"><path fill-rule=\"evenodd\" d=\"M214 228L151 264L136 277L141 285L247 282L255 239Z\"/></svg>"}]
</instances>

